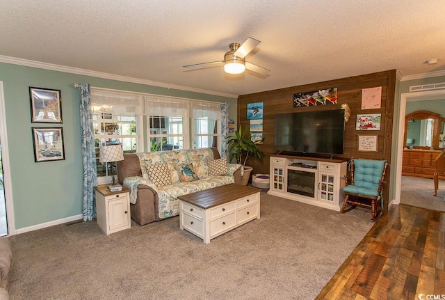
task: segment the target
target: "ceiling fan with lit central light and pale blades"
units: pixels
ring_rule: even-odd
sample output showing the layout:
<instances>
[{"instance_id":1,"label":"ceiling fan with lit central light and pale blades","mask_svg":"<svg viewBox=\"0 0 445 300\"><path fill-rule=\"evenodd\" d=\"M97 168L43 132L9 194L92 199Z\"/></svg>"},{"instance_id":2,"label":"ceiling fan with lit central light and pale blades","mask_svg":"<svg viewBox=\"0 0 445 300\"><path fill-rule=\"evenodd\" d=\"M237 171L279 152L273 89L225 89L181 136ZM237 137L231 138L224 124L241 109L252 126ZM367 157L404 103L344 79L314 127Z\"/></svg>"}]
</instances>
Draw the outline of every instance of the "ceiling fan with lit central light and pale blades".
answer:
<instances>
[{"instance_id":1,"label":"ceiling fan with lit central light and pale blades","mask_svg":"<svg viewBox=\"0 0 445 300\"><path fill-rule=\"evenodd\" d=\"M230 50L224 54L224 61L211 61L209 63L195 63L193 65L184 65L184 68L204 68L207 65L223 65L224 71L229 74L241 74L246 68L259 74L268 74L270 70L249 63L245 61L245 56L248 55L260 41L254 38L248 38L243 42L243 45L239 45L238 42L233 42L229 45Z\"/></svg>"}]
</instances>

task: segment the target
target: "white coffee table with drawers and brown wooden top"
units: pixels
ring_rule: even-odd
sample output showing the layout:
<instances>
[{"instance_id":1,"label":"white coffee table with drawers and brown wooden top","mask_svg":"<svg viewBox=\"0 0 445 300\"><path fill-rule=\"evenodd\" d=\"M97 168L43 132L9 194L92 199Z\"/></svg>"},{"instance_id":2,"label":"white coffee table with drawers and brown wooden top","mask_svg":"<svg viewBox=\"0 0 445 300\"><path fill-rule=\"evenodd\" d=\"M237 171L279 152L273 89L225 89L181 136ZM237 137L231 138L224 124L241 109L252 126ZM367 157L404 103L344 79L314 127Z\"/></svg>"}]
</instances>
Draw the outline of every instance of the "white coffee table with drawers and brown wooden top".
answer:
<instances>
[{"instance_id":1,"label":"white coffee table with drawers and brown wooden top","mask_svg":"<svg viewBox=\"0 0 445 300\"><path fill-rule=\"evenodd\" d=\"M259 191L254 187L225 184L178 196L179 227L209 244L211 239L259 219Z\"/></svg>"}]
</instances>

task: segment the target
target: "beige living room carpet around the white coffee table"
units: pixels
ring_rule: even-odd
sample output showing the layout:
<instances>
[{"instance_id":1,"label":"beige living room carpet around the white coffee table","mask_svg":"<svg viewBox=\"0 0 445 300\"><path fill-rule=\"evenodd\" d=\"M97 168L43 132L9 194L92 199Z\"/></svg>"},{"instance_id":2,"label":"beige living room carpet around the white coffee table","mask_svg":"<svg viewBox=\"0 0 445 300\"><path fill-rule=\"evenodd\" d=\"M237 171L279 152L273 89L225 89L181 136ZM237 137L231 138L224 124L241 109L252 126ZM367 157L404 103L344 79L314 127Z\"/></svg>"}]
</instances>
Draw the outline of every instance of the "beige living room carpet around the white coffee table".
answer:
<instances>
[{"instance_id":1,"label":"beige living room carpet around the white coffee table","mask_svg":"<svg viewBox=\"0 0 445 300\"><path fill-rule=\"evenodd\" d=\"M134 224L133 224L134 225ZM95 222L8 237L18 299L314 299L373 226L261 193L261 219L204 244L179 219L104 235Z\"/></svg>"}]
</instances>

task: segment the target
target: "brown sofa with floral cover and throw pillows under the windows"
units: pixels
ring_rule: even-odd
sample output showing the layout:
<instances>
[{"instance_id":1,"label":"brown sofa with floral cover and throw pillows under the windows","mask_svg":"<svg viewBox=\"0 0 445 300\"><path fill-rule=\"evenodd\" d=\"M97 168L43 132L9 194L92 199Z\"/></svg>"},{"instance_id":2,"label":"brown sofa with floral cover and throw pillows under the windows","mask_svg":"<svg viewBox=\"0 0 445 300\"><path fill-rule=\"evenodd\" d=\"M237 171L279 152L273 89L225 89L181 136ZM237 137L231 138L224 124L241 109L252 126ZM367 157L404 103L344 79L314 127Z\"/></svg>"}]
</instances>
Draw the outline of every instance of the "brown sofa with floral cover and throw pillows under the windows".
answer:
<instances>
[{"instance_id":1,"label":"brown sofa with floral cover and throw pillows under the windows","mask_svg":"<svg viewBox=\"0 0 445 300\"><path fill-rule=\"evenodd\" d=\"M140 225L179 215L177 196L223 184L241 184L243 168L216 148L125 154L120 184L130 189L131 219Z\"/></svg>"}]
</instances>

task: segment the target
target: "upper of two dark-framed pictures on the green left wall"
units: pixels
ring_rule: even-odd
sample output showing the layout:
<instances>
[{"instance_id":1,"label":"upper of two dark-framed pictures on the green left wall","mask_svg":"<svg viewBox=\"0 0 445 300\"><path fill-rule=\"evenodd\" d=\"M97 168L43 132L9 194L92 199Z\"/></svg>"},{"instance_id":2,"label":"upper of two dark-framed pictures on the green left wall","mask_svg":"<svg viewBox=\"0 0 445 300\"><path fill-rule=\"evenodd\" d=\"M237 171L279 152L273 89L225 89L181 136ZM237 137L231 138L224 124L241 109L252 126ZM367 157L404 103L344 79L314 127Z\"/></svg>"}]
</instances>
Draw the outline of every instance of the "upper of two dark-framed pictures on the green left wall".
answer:
<instances>
[{"instance_id":1,"label":"upper of two dark-framed pictures on the green left wall","mask_svg":"<svg viewBox=\"0 0 445 300\"><path fill-rule=\"evenodd\" d=\"M62 123L60 90L29 87L31 123Z\"/></svg>"}]
</instances>

